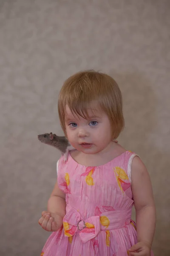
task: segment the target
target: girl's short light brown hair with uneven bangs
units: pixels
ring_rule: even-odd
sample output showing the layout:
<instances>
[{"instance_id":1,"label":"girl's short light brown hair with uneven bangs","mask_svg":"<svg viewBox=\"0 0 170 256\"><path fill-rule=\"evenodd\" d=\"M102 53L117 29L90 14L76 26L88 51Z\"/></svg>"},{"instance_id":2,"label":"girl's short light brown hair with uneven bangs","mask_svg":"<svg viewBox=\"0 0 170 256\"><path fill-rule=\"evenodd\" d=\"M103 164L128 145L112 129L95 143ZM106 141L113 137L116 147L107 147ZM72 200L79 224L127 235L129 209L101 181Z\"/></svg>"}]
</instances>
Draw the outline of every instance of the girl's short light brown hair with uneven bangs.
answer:
<instances>
[{"instance_id":1,"label":"girl's short light brown hair with uneven bangs","mask_svg":"<svg viewBox=\"0 0 170 256\"><path fill-rule=\"evenodd\" d=\"M58 112L65 136L67 136L66 105L73 114L88 119L88 109L93 102L97 102L99 109L108 115L113 130L113 139L119 136L124 127L122 93L111 76L94 70L81 71L70 76L60 90Z\"/></svg>"}]
</instances>

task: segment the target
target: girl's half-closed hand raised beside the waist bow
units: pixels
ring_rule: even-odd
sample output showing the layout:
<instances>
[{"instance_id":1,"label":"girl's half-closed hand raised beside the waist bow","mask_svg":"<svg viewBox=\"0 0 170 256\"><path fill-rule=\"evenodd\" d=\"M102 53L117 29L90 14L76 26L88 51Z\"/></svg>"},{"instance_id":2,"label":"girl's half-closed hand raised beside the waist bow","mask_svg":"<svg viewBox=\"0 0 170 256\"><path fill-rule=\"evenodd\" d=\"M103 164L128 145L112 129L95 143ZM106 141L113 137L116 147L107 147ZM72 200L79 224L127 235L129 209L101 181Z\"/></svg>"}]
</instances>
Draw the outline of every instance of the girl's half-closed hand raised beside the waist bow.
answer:
<instances>
[{"instance_id":1,"label":"girl's half-closed hand raised beside the waist bow","mask_svg":"<svg viewBox=\"0 0 170 256\"><path fill-rule=\"evenodd\" d=\"M43 211L41 215L38 223L44 230L54 232L62 227L62 217L59 214Z\"/></svg>"}]
</instances>

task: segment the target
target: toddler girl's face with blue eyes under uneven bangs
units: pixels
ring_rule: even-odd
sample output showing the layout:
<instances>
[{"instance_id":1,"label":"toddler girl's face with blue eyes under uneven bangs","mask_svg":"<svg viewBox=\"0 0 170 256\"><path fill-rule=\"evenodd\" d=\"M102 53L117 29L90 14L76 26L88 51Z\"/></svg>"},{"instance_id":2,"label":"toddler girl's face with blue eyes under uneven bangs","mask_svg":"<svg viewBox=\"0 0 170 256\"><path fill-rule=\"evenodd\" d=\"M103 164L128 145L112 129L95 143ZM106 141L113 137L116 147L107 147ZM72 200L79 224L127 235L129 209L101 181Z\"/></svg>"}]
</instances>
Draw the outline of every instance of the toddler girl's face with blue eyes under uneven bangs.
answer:
<instances>
[{"instance_id":1,"label":"toddler girl's face with blue eyes under uneven bangs","mask_svg":"<svg viewBox=\"0 0 170 256\"><path fill-rule=\"evenodd\" d=\"M78 151L85 154L96 154L111 143L111 123L103 111L89 109L89 119L87 120L82 116L73 115L66 106L65 116L68 140Z\"/></svg>"}]
</instances>

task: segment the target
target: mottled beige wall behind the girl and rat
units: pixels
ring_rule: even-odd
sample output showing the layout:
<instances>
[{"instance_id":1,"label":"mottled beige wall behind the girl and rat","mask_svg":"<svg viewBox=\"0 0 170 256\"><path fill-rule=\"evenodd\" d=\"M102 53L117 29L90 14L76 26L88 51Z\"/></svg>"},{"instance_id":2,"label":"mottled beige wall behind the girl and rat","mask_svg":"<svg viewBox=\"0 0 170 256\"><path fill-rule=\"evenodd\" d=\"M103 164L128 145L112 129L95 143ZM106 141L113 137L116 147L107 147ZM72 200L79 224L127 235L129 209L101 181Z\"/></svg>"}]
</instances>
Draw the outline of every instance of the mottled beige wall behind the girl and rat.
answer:
<instances>
[{"instance_id":1,"label":"mottled beige wall behind the girl and rat","mask_svg":"<svg viewBox=\"0 0 170 256\"><path fill-rule=\"evenodd\" d=\"M153 183L155 256L170 255L170 1L0 0L0 254L37 256L38 225L59 151L37 134L62 135L63 81L109 73L124 99L119 142L138 153Z\"/></svg>"}]
</instances>

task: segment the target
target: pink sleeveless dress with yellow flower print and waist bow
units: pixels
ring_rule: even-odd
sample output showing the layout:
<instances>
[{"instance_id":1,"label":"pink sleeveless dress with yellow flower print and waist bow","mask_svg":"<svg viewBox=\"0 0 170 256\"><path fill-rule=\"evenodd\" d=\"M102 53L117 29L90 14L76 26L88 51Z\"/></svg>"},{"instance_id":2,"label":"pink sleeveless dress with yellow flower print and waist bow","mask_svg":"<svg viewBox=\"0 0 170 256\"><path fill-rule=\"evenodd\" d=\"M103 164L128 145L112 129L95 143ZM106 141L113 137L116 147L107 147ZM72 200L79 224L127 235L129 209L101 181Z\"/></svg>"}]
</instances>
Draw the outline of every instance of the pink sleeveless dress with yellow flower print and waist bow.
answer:
<instances>
[{"instance_id":1,"label":"pink sleeveless dress with yellow flower print and waist bow","mask_svg":"<svg viewBox=\"0 0 170 256\"><path fill-rule=\"evenodd\" d=\"M125 151L101 166L83 166L70 154L57 161L59 188L66 194L63 226L52 232L41 256L127 256L137 243L131 163ZM151 253L153 256L153 253Z\"/></svg>"}]
</instances>

